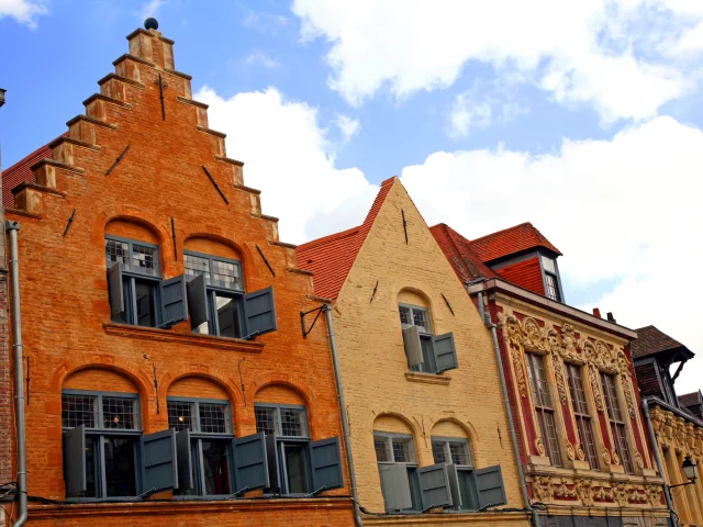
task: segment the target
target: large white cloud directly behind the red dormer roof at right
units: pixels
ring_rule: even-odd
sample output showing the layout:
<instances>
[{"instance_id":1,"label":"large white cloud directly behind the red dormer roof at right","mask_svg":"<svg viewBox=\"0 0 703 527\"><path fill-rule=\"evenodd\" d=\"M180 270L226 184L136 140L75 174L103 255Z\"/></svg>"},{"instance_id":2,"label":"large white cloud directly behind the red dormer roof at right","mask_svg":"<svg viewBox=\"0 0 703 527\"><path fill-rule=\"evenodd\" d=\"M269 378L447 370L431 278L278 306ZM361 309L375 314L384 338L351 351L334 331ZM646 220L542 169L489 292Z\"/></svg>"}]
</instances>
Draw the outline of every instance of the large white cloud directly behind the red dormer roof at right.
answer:
<instances>
[{"instance_id":1,"label":"large white cloud directly behind the red dormer roof at right","mask_svg":"<svg viewBox=\"0 0 703 527\"><path fill-rule=\"evenodd\" d=\"M685 264L703 261L701 152L700 130L657 117L544 156L439 152L401 179L431 225L446 222L469 238L531 221L565 254L569 285L616 284L582 309L612 311L633 328L654 324L703 357L694 321L703 282ZM698 389L702 363L687 365L679 390Z\"/></svg>"}]
</instances>

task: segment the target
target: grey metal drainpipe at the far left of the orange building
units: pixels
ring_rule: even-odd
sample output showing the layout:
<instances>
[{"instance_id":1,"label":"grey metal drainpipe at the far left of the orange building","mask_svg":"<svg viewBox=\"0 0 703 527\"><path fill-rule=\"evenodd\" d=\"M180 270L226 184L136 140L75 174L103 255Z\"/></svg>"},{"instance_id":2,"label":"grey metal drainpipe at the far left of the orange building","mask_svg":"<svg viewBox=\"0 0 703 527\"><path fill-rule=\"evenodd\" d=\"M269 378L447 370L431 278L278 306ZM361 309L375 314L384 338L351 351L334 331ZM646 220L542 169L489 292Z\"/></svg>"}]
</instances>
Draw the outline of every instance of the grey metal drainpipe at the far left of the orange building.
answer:
<instances>
[{"instance_id":1,"label":"grey metal drainpipe at the far left of the orange building","mask_svg":"<svg viewBox=\"0 0 703 527\"><path fill-rule=\"evenodd\" d=\"M14 344L14 404L18 427L18 494L20 516L13 527L21 527L27 517L26 508L26 437L24 430L24 373L22 368L22 314L20 312L20 260L18 255L18 222L5 222L10 233L10 273L12 278L12 329Z\"/></svg>"}]
</instances>

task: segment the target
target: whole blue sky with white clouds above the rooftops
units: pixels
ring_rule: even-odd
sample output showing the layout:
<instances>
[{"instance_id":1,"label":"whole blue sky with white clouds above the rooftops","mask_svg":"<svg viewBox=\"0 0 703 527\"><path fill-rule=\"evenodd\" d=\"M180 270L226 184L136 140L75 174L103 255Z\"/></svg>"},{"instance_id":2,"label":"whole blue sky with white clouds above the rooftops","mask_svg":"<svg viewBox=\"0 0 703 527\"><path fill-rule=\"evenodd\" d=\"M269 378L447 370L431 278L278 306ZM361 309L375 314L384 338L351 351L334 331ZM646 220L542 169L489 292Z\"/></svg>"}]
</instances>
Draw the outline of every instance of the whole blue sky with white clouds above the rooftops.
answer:
<instances>
[{"instance_id":1,"label":"whole blue sky with white clouds above the rooftops","mask_svg":"<svg viewBox=\"0 0 703 527\"><path fill-rule=\"evenodd\" d=\"M703 258L703 2L0 0L5 168L82 112L147 14L287 242L359 223L398 175L431 225L532 221L569 303L703 355L703 285L671 287Z\"/></svg>"}]
</instances>

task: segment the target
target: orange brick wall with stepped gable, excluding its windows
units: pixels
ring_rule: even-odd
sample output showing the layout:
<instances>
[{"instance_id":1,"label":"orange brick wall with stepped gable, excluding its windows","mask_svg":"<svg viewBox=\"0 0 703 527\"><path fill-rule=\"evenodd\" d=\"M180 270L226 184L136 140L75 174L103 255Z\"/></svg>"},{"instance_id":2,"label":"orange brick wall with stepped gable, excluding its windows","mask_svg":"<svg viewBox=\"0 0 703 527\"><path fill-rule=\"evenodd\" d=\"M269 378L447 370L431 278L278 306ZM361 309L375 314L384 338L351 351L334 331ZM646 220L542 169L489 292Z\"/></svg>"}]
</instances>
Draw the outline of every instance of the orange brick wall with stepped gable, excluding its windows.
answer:
<instances>
[{"instance_id":1,"label":"orange brick wall with stepped gable, excluding its windows","mask_svg":"<svg viewBox=\"0 0 703 527\"><path fill-rule=\"evenodd\" d=\"M86 110L99 121L72 124L70 137L75 141L54 146L57 162L40 169L45 170L36 177L41 184L18 194L18 205L23 210L8 211L8 217L21 224L21 310L24 349L32 362L26 437L29 493L33 496L65 496L63 388L135 391L146 434L168 427L167 394L226 396L234 431L244 436L256 431L255 400L267 394L276 400L288 393L288 400L305 404L313 439L342 436L324 319L305 339L300 326L300 312L320 305L311 296L311 277L295 268L294 247L279 243L277 220L261 215L257 191L243 187L241 164L224 157L222 137L207 127L204 109L190 100L189 79L172 72L164 61L163 49L168 42L156 32L132 36L133 41L148 38L153 45L134 47L133 53L143 54L140 59L119 61L118 72L129 79L103 79L102 92L112 99L94 99ZM159 72L167 85L165 121ZM126 145L130 150L105 176ZM228 204L204 173L203 165ZM74 210L75 221L63 236ZM272 285L278 330L250 343L233 344L194 336L188 322L167 330L134 330L111 324L105 233L150 237L159 246L165 279L183 273L185 247L239 256L247 291ZM152 361L144 358L145 354L156 367L158 413ZM267 388L274 385L286 391ZM130 524L346 526L353 524L350 501L333 500L336 505L331 508L321 504L326 503L325 496L348 494L347 484L346 489L300 501L294 513L276 505L280 500L252 502L246 514L239 515L232 512L234 505L227 508L200 502L199 513L192 514L192 504L174 502L148 513L133 512ZM118 504L108 513L107 508L85 505L49 509L32 505L30 524L56 525L62 517L62 525L125 525L122 514L135 507L148 508L144 504ZM79 509L80 514L76 512ZM85 511L89 511L87 516ZM74 517L76 514L79 516ZM168 519L155 517L160 514Z\"/></svg>"}]
</instances>

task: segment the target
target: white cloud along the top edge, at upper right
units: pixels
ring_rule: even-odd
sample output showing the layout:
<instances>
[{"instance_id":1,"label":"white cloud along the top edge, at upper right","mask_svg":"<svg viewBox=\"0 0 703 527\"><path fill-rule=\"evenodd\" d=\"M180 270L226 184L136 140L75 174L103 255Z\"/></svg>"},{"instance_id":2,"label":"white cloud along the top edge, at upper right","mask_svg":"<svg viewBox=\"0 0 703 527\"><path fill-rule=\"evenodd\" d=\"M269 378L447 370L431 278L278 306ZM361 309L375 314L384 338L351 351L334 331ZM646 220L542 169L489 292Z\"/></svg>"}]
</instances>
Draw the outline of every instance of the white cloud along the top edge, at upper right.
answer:
<instances>
[{"instance_id":1,"label":"white cloud along the top edge, at upper right","mask_svg":"<svg viewBox=\"0 0 703 527\"><path fill-rule=\"evenodd\" d=\"M451 86L471 60L518 72L603 122L646 119L692 88L688 63L663 60L703 22L687 0L294 0L304 40L324 37L330 86L360 104L388 86L398 98ZM673 36L672 36L673 35ZM698 45L698 44L696 44ZM700 58L700 57L699 57Z\"/></svg>"}]
</instances>

